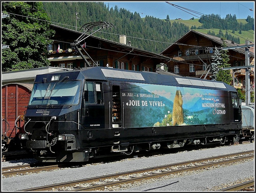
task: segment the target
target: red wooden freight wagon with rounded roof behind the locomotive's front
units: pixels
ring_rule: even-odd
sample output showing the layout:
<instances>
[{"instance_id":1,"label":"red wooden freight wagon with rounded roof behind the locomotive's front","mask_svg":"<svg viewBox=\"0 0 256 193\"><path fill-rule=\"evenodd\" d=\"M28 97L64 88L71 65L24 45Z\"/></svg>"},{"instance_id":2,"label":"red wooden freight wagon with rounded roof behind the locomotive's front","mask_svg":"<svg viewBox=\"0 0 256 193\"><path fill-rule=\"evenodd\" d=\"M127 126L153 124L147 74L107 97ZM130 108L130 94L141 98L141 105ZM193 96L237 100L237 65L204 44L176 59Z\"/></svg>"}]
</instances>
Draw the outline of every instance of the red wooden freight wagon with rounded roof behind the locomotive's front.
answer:
<instances>
[{"instance_id":1,"label":"red wooden freight wagon with rounded roof behind the locomotive's front","mask_svg":"<svg viewBox=\"0 0 256 193\"><path fill-rule=\"evenodd\" d=\"M24 132L24 112L27 110L33 84L8 83L2 86L2 152L22 148L19 140Z\"/></svg>"}]
</instances>

